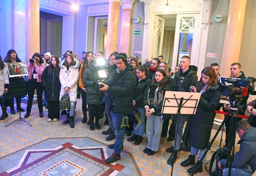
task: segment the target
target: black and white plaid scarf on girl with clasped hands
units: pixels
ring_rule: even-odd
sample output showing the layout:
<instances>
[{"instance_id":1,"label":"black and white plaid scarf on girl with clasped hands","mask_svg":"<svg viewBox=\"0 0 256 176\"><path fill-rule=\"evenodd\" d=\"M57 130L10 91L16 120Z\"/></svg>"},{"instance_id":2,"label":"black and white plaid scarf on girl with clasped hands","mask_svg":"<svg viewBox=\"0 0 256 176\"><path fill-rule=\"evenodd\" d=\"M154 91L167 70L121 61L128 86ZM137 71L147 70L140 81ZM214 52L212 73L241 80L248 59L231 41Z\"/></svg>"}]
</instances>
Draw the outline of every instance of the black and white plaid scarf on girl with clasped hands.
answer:
<instances>
[{"instance_id":1,"label":"black and white plaid scarf on girl with clasped hands","mask_svg":"<svg viewBox=\"0 0 256 176\"><path fill-rule=\"evenodd\" d=\"M153 92L152 90L150 92L150 89L148 89L148 105L149 105L149 108L150 108L150 106L155 107L156 105L158 105L163 100L163 94L158 91L159 83L155 82L154 86L157 87L155 92Z\"/></svg>"}]
</instances>

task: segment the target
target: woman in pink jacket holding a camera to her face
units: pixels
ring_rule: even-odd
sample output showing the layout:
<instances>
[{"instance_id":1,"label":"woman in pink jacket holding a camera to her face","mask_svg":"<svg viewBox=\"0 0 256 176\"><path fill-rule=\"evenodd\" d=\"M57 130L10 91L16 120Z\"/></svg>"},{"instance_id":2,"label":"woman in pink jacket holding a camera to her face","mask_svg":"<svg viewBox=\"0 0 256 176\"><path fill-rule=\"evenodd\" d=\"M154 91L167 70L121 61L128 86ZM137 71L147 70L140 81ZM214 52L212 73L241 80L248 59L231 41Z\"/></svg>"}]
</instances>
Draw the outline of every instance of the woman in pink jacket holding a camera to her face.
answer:
<instances>
[{"instance_id":1,"label":"woman in pink jacket holding a camera to her face","mask_svg":"<svg viewBox=\"0 0 256 176\"><path fill-rule=\"evenodd\" d=\"M39 53L35 53L32 56L32 59L29 60L29 63L27 64L27 68L28 68L28 85L27 85L28 105L27 105L27 112L24 118L28 118L30 116L35 90L36 90L37 104L39 109L39 117L44 117L43 85L42 85L41 77L45 69L45 63L43 61L42 56Z\"/></svg>"}]
</instances>

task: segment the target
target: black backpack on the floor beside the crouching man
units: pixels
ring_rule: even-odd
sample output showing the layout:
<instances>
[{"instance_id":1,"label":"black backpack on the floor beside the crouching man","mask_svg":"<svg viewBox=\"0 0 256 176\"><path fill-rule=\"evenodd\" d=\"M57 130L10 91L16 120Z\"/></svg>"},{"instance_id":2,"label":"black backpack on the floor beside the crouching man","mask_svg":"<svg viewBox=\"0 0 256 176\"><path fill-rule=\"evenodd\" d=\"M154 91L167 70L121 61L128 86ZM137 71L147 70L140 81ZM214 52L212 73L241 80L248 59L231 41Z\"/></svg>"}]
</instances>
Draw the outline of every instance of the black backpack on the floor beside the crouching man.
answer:
<instances>
[{"instance_id":1,"label":"black backpack on the floor beside the crouching man","mask_svg":"<svg viewBox=\"0 0 256 176\"><path fill-rule=\"evenodd\" d=\"M211 176L222 176L222 169L219 168L218 163L221 159L227 159L227 156L228 156L227 147L220 148L212 154L212 158L210 160L211 162L210 162L210 166L209 166L209 174ZM215 171L211 173L212 165L214 163L215 158L216 158L216 168L215 168ZM207 171L206 166L205 166L205 169Z\"/></svg>"}]
</instances>

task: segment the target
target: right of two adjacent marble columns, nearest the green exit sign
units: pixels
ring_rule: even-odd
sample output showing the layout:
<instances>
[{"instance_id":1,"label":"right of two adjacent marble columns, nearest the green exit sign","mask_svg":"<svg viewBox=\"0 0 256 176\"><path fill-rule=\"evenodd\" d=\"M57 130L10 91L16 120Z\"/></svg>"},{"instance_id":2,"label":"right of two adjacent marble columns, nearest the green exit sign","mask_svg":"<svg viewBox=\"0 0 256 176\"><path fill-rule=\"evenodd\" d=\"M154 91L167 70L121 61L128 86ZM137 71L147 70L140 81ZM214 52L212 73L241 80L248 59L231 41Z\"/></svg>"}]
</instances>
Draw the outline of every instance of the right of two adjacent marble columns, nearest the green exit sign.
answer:
<instances>
[{"instance_id":1,"label":"right of two adjacent marble columns, nearest the green exit sign","mask_svg":"<svg viewBox=\"0 0 256 176\"><path fill-rule=\"evenodd\" d=\"M132 15L132 4L134 0L123 0L122 4L122 24L119 52L130 55L130 38L131 38L131 15ZM129 57L129 56L128 56Z\"/></svg>"}]
</instances>

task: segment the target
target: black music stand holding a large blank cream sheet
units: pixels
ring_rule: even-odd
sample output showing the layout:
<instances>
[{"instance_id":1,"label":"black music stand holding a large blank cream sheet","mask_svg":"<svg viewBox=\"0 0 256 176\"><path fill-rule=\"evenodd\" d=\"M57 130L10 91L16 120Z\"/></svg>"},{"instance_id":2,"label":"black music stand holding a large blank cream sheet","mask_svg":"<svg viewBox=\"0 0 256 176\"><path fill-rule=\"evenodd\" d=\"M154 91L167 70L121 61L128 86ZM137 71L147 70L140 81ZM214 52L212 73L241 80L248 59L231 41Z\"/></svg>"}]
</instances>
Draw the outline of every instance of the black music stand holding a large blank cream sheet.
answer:
<instances>
[{"instance_id":1,"label":"black music stand holding a large blank cream sheet","mask_svg":"<svg viewBox=\"0 0 256 176\"><path fill-rule=\"evenodd\" d=\"M180 121L180 114L182 115L194 115L198 106L201 93L191 92L172 92L166 91L164 95L164 103L162 107L162 114L178 114L178 120L176 125L176 134L174 138L173 152L176 148L178 124ZM174 157L172 160L172 172L173 172ZM172 175L171 172L171 175Z\"/></svg>"}]
</instances>

